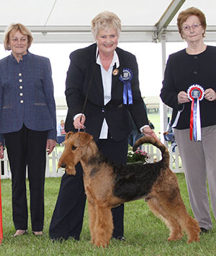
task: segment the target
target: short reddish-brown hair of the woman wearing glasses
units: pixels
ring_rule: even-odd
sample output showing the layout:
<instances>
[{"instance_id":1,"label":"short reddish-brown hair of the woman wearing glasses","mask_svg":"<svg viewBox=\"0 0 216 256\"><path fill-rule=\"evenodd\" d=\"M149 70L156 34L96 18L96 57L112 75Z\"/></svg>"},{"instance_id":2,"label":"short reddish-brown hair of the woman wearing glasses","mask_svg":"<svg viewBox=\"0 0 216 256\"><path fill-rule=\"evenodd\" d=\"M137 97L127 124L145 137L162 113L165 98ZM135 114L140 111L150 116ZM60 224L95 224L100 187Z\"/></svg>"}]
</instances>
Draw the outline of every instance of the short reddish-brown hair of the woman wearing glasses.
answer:
<instances>
[{"instance_id":1,"label":"short reddish-brown hair of the woman wearing glasses","mask_svg":"<svg viewBox=\"0 0 216 256\"><path fill-rule=\"evenodd\" d=\"M179 16L177 18L177 26L179 29L179 33L181 35L181 38L184 39L184 37L182 37L182 25L183 23L186 21L186 19L188 19L190 16L195 15L198 17L200 24L202 25L202 27L204 28L204 32L202 34L202 36L204 37L205 34L205 30L207 27L206 24L206 19L204 16L204 13L202 11L200 11L198 8L196 7L190 7L182 12L179 13Z\"/></svg>"}]
</instances>

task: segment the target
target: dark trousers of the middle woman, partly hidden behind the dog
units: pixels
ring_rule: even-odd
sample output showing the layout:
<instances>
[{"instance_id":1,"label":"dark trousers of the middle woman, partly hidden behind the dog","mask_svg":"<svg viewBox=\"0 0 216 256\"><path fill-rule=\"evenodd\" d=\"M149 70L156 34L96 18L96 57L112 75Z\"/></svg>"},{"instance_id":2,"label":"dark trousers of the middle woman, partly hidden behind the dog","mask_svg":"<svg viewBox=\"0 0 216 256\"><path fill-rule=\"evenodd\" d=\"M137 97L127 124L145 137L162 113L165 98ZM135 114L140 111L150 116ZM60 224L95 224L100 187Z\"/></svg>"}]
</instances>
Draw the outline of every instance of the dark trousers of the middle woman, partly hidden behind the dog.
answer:
<instances>
[{"instance_id":1,"label":"dark trousers of the middle woman, partly hidden behind the dog","mask_svg":"<svg viewBox=\"0 0 216 256\"><path fill-rule=\"evenodd\" d=\"M123 141L113 141L112 138L97 141L102 153L113 161L126 164L127 138ZM86 205L83 170L81 164L76 165L76 175L63 175L60 183L58 199L50 223L51 239L80 238ZM114 231L112 237L123 237L124 205L112 209Z\"/></svg>"}]
</instances>

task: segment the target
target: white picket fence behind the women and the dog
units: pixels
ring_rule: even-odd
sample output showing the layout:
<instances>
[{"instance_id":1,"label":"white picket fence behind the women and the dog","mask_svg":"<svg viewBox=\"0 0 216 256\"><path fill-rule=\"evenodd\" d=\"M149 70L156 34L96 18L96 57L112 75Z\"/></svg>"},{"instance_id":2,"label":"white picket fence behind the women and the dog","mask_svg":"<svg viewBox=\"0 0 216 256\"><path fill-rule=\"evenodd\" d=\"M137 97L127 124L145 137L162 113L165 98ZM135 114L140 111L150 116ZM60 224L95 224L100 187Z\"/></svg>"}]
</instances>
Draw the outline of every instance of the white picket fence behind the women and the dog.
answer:
<instances>
[{"instance_id":1,"label":"white picket fence behind the women and the dog","mask_svg":"<svg viewBox=\"0 0 216 256\"><path fill-rule=\"evenodd\" d=\"M149 156L149 162L158 162L161 159L161 151L156 149L156 147L152 145L143 145L143 150L145 150ZM170 154L170 168L173 172L183 172L181 167L181 158L179 156L179 150L176 146L175 152L172 152L171 146L168 147L168 151ZM62 151L57 153L57 150L53 151L50 156L47 156L47 165L45 177L61 177L64 174L63 169L58 169L58 159ZM6 154L6 150L4 151L4 159L0 159L2 164L4 164L4 174L2 174L1 170L1 179L10 179L11 172L9 169L9 160ZM0 165L2 167L2 164Z\"/></svg>"}]
</instances>

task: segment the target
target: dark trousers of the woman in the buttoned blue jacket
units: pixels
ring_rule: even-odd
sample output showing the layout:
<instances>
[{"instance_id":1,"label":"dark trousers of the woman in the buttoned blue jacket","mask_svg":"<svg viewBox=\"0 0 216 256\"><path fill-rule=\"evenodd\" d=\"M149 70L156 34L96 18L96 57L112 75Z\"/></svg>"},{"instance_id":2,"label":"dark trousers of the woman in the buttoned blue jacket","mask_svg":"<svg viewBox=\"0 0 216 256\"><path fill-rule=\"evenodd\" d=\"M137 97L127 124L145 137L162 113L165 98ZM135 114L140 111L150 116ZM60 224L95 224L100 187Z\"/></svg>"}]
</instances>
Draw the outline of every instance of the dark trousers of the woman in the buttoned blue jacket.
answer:
<instances>
[{"instance_id":1,"label":"dark trousers of the woman in the buttoned blue jacket","mask_svg":"<svg viewBox=\"0 0 216 256\"><path fill-rule=\"evenodd\" d=\"M26 171L30 182L32 231L42 231L47 131L5 133L6 150L12 172L12 209L15 229L27 229Z\"/></svg>"}]
</instances>

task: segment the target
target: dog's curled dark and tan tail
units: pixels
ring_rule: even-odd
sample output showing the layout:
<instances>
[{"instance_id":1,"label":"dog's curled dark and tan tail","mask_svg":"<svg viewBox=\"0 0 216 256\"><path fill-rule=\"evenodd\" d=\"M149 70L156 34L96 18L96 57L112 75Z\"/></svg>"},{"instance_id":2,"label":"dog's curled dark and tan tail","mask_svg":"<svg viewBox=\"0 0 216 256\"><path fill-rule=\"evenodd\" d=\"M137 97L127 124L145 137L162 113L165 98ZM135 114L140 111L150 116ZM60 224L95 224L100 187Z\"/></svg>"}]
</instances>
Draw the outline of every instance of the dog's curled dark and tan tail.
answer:
<instances>
[{"instance_id":1,"label":"dog's curled dark and tan tail","mask_svg":"<svg viewBox=\"0 0 216 256\"><path fill-rule=\"evenodd\" d=\"M161 154L162 154L162 159L161 162L163 162L164 167L169 167L169 153L168 153L168 149L166 148L165 145L163 145L161 143L161 141L156 140L156 138L153 138L152 136L143 136L142 138L139 138L134 146L132 147L133 151L136 151L136 149L138 148L138 146L144 144L144 143L150 143L153 144L154 146L156 146L158 149L161 150Z\"/></svg>"}]
</instances>

